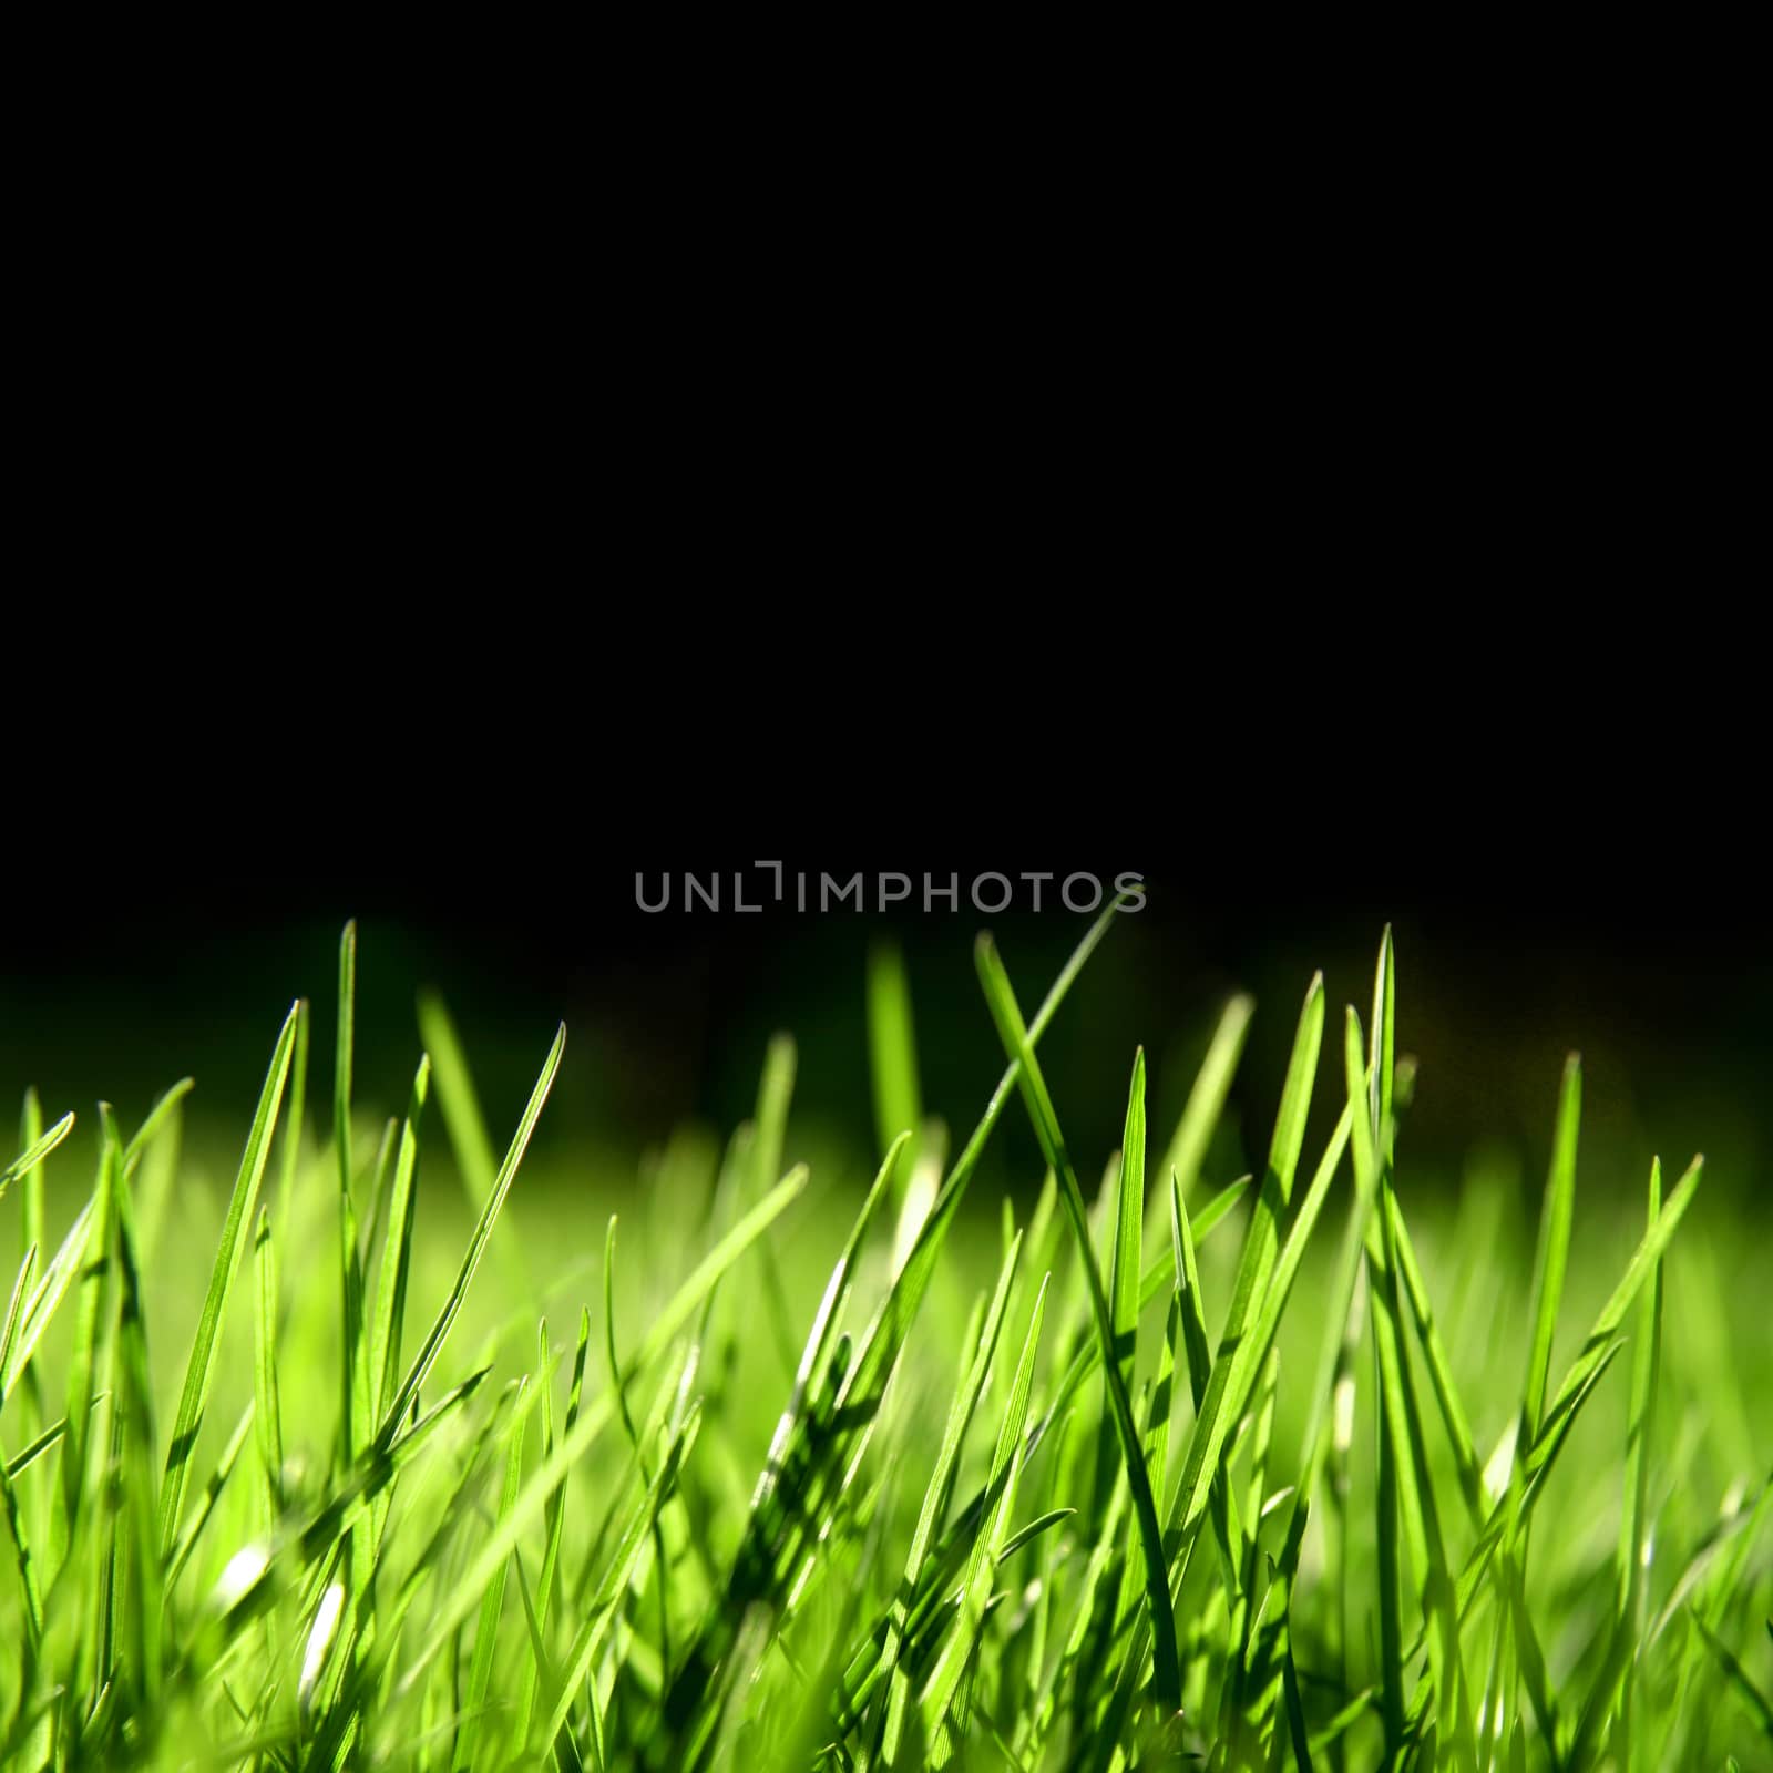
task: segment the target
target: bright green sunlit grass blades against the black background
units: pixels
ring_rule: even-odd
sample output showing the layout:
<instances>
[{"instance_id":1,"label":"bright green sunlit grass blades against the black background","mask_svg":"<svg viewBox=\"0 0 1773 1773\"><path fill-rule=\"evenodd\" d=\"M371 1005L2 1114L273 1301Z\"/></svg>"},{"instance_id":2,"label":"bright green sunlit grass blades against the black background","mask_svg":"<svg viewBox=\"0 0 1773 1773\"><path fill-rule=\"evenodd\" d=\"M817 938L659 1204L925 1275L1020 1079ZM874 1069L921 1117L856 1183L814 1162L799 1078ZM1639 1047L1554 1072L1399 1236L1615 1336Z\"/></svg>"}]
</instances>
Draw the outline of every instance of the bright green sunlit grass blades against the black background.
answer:
<instances>
[{"instance_id":1,"label":"bright green sunlit grass blades against the black background","mask_svg":"<svg viewBox=\"0 0 1773 1773\"><path fill-rule=\"evenodd\" d=\"M621 1236L514 1204L564 1028L502 1160L436 996L365 1119L355 927L328 1126L296 1002L218 1232L190 1080L99 1108L90 1183L27 1092L0 1764L1773 1766L1773 1362L1700 1160L1585 1199L1573 1058L1537 1236L1418 1188L1386 936L1365 1023L1312 980L1254 1177L1234 998L1174 1129L1129 1044L1087 1193L1037 1050L1112 924L1032 1018L980 938L1005 1071L950 1163L879 949L872 1183L789 1161L778 1039ZM993 1206L1018 1099L1046 1175Z\"/></svg>"}]
</instances>

